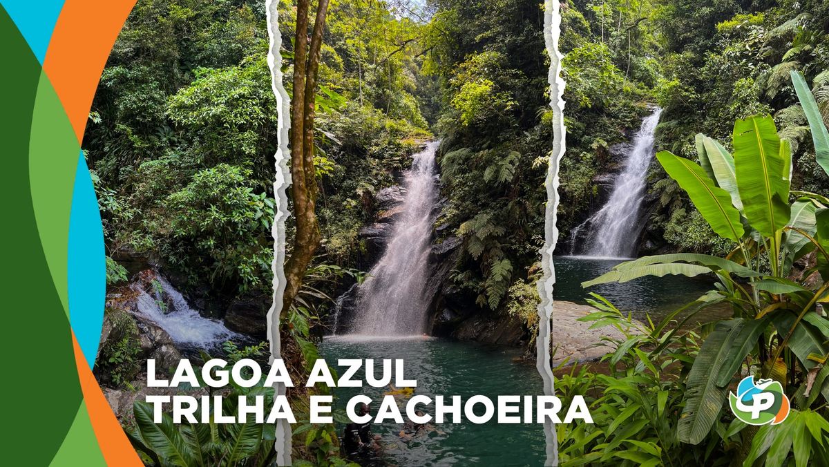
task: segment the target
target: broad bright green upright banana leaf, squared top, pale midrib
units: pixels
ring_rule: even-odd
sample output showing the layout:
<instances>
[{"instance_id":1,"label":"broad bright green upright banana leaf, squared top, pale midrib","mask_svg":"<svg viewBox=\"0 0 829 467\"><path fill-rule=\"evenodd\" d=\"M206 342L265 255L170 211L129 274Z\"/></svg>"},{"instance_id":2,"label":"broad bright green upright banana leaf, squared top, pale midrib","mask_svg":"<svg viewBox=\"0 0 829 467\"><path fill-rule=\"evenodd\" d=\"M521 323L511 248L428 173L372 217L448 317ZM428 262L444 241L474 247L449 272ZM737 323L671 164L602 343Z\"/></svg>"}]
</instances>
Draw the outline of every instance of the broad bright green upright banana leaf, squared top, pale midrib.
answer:
<instances>
[{"instance_id":1,"label":"broad bright green upright banana leaf, squared top, pale midrib","mask_svg":"<svg viewBox=\"0 0 829 467\"><path fill-rule=\"evenodd\" d=\"M771 117L734 122L734 171L739 198L751 226L773 237L789 219L788 173Z\"/></svg>"}]
</instances>

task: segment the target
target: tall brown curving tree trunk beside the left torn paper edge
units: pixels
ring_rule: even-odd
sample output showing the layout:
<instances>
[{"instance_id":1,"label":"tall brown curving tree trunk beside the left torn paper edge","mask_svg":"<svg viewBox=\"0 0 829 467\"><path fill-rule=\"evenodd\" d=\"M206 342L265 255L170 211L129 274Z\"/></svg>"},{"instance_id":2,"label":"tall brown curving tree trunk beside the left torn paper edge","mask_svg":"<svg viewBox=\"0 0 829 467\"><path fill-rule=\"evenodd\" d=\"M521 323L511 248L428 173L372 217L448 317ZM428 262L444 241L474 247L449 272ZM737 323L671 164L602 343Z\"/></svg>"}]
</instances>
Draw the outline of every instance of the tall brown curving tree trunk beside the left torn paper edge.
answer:
<instances>
[{"instance_id":1,"label":"tall brown curving tree trunk beside the left torn paper edge","mask_svg":"<svg viewBox=\"0 0 829 467\"><path fill-rule=\"evenodd\" d=\"M294 35L293 97L291 99L291 194L296 236L293 250L285 261L285 292L280 318L288 315L299 293L303 276L317 252L322 236L315 212L317 179L313 164L314 96L322 48L322 31L328 0L320 0L308 46L308 7L310 0L297 2L297 29ZM284 320L281 320L284 323Z\"/></svg>"}]
</instances>

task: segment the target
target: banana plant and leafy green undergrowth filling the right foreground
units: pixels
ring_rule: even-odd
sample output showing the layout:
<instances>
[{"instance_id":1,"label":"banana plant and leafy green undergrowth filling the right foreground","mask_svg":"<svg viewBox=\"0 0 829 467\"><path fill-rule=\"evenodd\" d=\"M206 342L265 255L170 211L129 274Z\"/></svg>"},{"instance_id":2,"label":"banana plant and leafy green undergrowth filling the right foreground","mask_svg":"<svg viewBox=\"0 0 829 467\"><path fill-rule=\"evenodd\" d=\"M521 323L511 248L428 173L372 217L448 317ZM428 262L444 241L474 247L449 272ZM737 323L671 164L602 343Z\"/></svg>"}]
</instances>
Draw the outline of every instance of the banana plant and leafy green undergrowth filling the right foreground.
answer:
<instances>
[{"instance_id":1,"label":"banana plant and leafy green undergrowth filling the right foreground","mask_svg":"<svg viewBox=\"0 0 829 467\"><path fill-rule=\"evenodd\" d=\"M829 174L829 131L819 105L801 73L792 71L791 80L817 163ZM616 351L604 358L615 380L584 371L579 375L585 378L565 378L565 391L584 389L592 380L604 392L594 401L603 412L598 430L561 430L565 455L573 461L565 465L614 458L649 465L829 465L823 443L829 432L829 319L820 305L829 301L829 199L790 189L792 145L778 136L770 115L734 123L733 154L703 134L696 140L699 165L669 151L657 158L717 236L737 247L725 258L644 256L584 283L708 273L719 280L656 326L625 320L594 294L591 303L600 311L587 320L638 332L613 342ZM807 255L815 256L812 267L793 267ZM730 305L731 319L677 332L674 319L686 323L715 304ZM791 406L781 401L784 416L777 412L773 420L778 427L758 429L762 423L733 416L736 396L730 390L744 377L769 378L788 396ZM724 410L726 399L732 413Z\"/></svg>"}]
</instances>

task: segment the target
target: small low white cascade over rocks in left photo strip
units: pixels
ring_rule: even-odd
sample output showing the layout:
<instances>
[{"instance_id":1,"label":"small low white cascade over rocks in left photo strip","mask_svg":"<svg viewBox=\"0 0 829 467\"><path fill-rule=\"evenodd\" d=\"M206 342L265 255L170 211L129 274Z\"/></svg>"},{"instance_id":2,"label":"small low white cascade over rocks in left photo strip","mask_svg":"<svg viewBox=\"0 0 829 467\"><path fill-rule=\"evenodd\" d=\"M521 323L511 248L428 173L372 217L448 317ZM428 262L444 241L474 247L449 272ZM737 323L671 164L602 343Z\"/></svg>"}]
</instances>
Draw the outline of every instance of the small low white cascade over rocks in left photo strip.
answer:
<instances>
[{"instance_id":1,"label":"small low white cascade over rocks in left photo strip","mask_svg":"<svg viewBox=\"0 0 829 467\"><path fill-rule=\"evenodd\" d=\"M178 344L188 344L199 348L213 348L227 340L240 338L217 319L207 319L195 309L191 309L178 290L174 289L161 275L156 278L158 290L148 293L143 289L138 292L138 313L158 324L158 326ZM166 294L172 306L164 304Z\"/></svg>"}]
</instances>

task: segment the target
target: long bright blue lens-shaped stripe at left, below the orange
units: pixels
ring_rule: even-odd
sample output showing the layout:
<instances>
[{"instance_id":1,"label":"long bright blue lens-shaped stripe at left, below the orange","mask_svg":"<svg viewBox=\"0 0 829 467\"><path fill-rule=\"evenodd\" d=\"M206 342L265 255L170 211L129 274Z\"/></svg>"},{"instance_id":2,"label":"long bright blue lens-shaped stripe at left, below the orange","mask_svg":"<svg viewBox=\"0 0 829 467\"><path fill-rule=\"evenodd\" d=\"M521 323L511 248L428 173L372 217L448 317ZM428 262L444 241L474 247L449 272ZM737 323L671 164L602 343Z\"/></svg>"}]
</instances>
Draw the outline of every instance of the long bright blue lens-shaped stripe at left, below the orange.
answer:
<instances>
[{"instance_id":1,"label":"long bright blue lens-shaped stripe at left, below the orange","mask_svg":"<svg viewBox=\"0 0 829 467\"><path fill-rule=\"evenodd\" d=\"M90 171L86 168L84 153L81 152L69 219L69 322L90 367L95 365L104 323L104 257L104 229L98 199Z\"/></svg>"}]
</instances>

